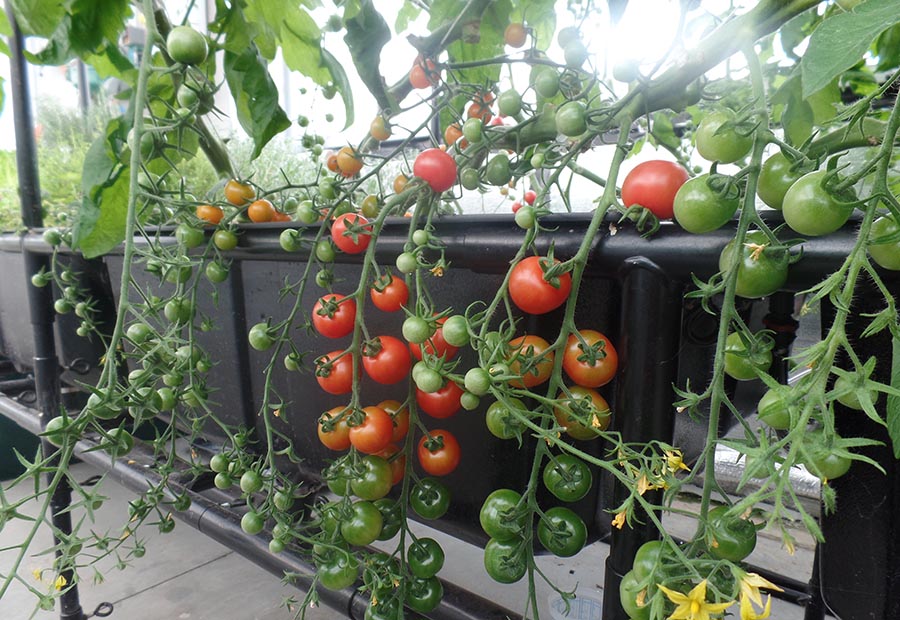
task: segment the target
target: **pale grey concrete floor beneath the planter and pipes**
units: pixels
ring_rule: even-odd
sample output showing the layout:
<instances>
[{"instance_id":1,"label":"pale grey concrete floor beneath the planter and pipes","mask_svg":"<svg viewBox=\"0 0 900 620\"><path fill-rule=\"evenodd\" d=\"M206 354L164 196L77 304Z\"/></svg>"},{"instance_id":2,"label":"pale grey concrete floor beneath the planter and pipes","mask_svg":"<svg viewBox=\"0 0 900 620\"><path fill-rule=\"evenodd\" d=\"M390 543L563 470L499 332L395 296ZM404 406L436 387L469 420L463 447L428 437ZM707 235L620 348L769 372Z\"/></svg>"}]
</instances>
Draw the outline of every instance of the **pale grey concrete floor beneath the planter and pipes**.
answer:
<instances>
[{"instance_id":1,"label":"pale grey concrete floor beneath the planter and pipes","mask_svg":"<svg viewBox=\"0 0 900 620\"><path fill-rule=\"evenodd\" d=\"M74 467L74 477L84 480L96 472L85 464ZM127 521L127 502L134 497L132 492L113 483L103 482L104 495L109 497L96 513L95 531L121 531ZM23 486L8 492L8 499L15 501L23 497ZM34 505L30 508L34 509ZM668 524L675 534L689 535L691 523L672 521ZM480 548L459 542L430 528L420 527L444 545L447 562L441 576L462 587L496 601L507 608L521 613L525 607L527 587L524 583L502 586L491 581L482 566ZM0 531L0 549L15 545L23 540L30 524L15 520ZM104 581L90 582L90 572L85 572L81 584L81 600L85 613L90 613L101 602L108 601L115 606L112 618L125 620L289 620L294 613L281 607L282 600L290 596L302 599L299 591L282 586L279 580L255 566L227 547L216 543L191 527L177 522L173 532L159 534L153 527L145 528L139 536L143 540L146 555L136 560L125 570L117 570L112 562L104 562L99 569ZM765 534L763 534L765 536ZM32 546L33 551L45 549L50 544L50 534L46 528L40 532ZM570 559L542 556L541 568L561 587L571 589L576 585L578 592L598 600L602 599L603 563L608 546L595 543L578 556ZM13 553L0 551L0 573L9 570ZM794 556L788 555L780 544L772 539L763 539L751 561L764 565L783 574L806 580L812 561L812 545L808 539L801 539ZM32 571L49 565L48 558L29 555L20 570L26 579L31 579L33 587L52 587L34 580ZM548 599L551 590L540 584L538 601L546 605L541 609L541 618L550 618ZM14 584L0 599L0 620L26 620L37 618L50 620L58 618L57 613L34 612L35 599L19 583ZM772 618L779 620L800 620L801 608L773 602ZM329 610L311 610L306 615L310 620L338 619L345 615ZM589 617L589 616L585 616ZM597 618L598 616L590 616Z\"/></svg>"}]
</instances>

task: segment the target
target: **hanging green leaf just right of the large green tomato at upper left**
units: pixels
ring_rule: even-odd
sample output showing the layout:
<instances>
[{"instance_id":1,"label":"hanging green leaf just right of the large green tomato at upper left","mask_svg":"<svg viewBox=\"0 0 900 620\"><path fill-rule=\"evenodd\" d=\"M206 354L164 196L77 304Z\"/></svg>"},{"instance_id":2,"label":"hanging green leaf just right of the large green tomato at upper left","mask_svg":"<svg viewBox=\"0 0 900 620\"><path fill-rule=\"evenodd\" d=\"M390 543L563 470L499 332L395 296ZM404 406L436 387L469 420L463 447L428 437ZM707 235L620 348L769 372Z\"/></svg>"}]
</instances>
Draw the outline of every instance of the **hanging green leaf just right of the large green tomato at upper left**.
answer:
<instances>
[{"instance_id":1,"label":"hanging green leaf just right of the large green tomato at upper left","mask_svg":"<svg viewBox=\"0 0 900 620\"><path fill-rule=\"evenodd\" d=\"M237 106L238 121L253 139L251 157L256 159L269 140L291 122L278 104L278 89L255 45L241 54L226 50L225 79Z\"/></svg>"}]
</instances>

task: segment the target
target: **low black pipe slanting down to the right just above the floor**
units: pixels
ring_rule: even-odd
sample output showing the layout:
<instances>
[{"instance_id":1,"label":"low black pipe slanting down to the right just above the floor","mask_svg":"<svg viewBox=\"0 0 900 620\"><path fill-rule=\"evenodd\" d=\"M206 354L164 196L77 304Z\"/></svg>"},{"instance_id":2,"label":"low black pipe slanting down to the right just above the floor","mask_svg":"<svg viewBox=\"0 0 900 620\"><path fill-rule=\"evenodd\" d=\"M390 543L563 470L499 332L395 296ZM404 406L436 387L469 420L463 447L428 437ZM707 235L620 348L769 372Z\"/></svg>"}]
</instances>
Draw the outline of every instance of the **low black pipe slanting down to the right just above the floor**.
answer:
<instances>
[{"instance_id":1,"label":"low black pipe slanting down to the right just above the floor","mask_svg":"<svg viewBox=\"0 0 900 620\"><path fill-rule=\"evenodd\" d=\"M0 415L12 420L32 433L41 429L40 420L34 409L0 394ZM134 449L127 458L112 460L103 450L98 450L98 442L91 439L80 440L75 453L86 463L109 472L109 477L137 493L159 484L161 478L151 465L156 462L153 452L143 442L135 442ZM293 584L301 590L308 590L315 576L315 566L290 551L273 554L269 551L271 537L251 536L241 529L241 515L205 495L195 492L190 486L171 476L167 483L174 494L184 493L191 498L190 507L173 516L196 528L213 540L222 543L270 573L284 577L285 573L295 576ZM442 580L444 597L441 605L427 615L431 620L504 620L518 618L518 614L500 607L459 586ZM319 600L323 605L338 610L353 620L362 620L368 599L354 587L341 591L319 588Z\"/></svg>"}]
</instances>

